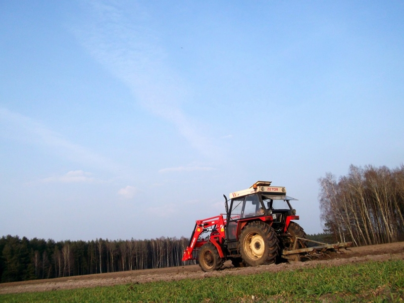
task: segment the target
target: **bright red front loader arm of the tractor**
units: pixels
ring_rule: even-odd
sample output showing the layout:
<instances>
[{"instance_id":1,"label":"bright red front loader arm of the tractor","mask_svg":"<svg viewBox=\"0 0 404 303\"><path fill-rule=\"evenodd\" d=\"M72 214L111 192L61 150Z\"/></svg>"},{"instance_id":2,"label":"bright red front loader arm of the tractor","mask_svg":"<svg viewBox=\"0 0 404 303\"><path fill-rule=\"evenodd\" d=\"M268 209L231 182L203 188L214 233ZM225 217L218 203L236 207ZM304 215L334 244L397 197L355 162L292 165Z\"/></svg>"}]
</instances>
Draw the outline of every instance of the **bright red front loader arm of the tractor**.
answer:
<instances>
[{"instance_id":1,"label":"bright red front loader arm of the tractor","mask_svg":"<svg viewBox=\"0 0 404 303\"><path fill-rule=\"evenodd\" d=\"M195 258L192 255L192 252L195 248L198 248L204 245L206 242L216 242L215 246L219 243L222 243L225 235L224 235L224 227L225 227L225 219L223 219L223 215L220 214L216 217L211 217L203 220L196 220L195 228L192 231L191 238L189 239L188 246L184 250L184 255L182 257L182 261L194 260ZM211 228L210 228L211 227ZM199 238L203 233L209 233L206 238Z\"/></svg>"}]
</instances>

